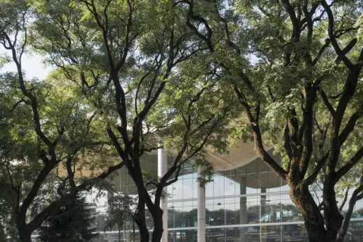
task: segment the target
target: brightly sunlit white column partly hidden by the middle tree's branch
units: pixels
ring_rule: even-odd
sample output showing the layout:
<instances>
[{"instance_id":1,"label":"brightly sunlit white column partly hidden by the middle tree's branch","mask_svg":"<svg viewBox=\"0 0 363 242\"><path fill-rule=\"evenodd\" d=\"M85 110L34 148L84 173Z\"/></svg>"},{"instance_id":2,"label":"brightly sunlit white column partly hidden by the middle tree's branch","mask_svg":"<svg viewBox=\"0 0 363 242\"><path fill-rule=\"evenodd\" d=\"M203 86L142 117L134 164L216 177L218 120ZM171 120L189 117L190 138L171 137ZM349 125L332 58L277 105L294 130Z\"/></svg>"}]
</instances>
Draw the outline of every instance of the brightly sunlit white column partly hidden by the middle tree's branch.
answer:
<instances>
[{"instance_id":1,"label":"brightly sunlit white column partly hidden by the middle tree's branch","mask_svg":"<svg viewBox=\"0 0 363 242\"><path fill-rule=\"evenodd\" d=\"M168 159L164 156L164 149L161 139L158 142L158 177L162 177L168 170ZM167 188L164 188L165 193ZM163 210L163 236L161 242L168 242L168 198L161 200L161 209Z\"/></svg>"}]
</instances>

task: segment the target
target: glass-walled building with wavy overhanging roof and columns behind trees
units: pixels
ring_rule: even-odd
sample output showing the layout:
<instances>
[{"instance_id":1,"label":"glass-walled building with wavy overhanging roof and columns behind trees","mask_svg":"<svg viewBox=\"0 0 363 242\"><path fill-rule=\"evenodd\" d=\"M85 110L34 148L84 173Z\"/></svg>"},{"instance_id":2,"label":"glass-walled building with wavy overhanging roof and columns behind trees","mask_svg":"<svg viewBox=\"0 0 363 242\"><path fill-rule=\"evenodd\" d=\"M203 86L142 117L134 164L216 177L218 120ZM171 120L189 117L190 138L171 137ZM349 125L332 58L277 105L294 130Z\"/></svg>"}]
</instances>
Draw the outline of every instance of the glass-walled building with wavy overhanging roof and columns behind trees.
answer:
<instances>
[{"instance_id":1,"label":"glass-walled building with wavy overhanging roof and columns behind trees","mask_svg":"<svg viewBox=\"0 0 363 242\"><path fill-rule=\"evenodd\" d=\"M269 149L269 153L272 151ZM145 156L144 169L160 174L161 162L172 162L172 157L162 160L160 154L159 159L158 153ZM203 238L211 242L309 241L302 215L288 195L289 187L255 156L253 144L240 144L230 149L228 155L209 152L208 159L215 165L216 173L205 190L197 183L198 167L192 165L184 165L179 180L168 187L170 197L164 203L168 234L163 242L202 242ZM281 162L278 156L274 159ZM135 185L125 168L117 171L112 182L119 192L135 195ZM318 185L311 189L320 203ZM103 232L102 213L97 218L101 232L98 241L118 241L116 231ZM363 202L357 202L346 241L362 241L362 225ZM132 240L132 229L126 226L121 241Z\"/></svg>"}]
</instances>

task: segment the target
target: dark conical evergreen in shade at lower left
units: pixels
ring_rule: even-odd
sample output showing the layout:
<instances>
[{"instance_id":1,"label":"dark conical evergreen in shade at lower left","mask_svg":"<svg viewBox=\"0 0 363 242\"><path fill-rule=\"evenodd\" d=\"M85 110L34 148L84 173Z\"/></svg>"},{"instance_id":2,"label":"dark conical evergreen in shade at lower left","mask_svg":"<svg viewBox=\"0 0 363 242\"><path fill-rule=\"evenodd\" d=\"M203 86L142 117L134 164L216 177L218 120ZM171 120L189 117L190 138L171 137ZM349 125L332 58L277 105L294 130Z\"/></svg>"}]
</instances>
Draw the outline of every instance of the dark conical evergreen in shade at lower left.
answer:
<instances>
[{"instance_id":1,"label":"dark conical evergreen in shade at lower left","mask_svg":"<svg viewBox=\"0 0 363 242\"><path fill-rule=\"evenodd\" d=\"M78 195L73 203L55 211L39 229L41 241L91 241L97 236L91 204Z\"/></svg>"}]
</instances>

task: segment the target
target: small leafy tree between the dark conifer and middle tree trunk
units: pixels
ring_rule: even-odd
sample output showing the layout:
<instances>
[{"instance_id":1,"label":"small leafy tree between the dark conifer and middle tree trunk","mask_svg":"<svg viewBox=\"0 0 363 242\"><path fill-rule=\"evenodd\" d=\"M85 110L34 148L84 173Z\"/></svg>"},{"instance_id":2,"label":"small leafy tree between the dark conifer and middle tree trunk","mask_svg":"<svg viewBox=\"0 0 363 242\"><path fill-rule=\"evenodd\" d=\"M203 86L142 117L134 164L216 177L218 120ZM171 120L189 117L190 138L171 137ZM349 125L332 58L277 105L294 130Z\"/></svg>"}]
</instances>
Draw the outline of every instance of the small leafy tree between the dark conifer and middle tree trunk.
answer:
<instances>
[{"instance_id":1,"label":"small leafy tree between the dark conifer and middle tree trunk","mask_svg":"<svg viewBox=\"0 0 363 242\"><path fill-rule=\"evenodd\" d=\"M108 199L108 222L106 227L112 229L115 225L119 229L119 241L121 241L121 228L126 221L133 220L133 206L135 201L128 195L114 195ZM135 241L135 224L133 224L133 241Z\"/></svg>"}]
</instances>

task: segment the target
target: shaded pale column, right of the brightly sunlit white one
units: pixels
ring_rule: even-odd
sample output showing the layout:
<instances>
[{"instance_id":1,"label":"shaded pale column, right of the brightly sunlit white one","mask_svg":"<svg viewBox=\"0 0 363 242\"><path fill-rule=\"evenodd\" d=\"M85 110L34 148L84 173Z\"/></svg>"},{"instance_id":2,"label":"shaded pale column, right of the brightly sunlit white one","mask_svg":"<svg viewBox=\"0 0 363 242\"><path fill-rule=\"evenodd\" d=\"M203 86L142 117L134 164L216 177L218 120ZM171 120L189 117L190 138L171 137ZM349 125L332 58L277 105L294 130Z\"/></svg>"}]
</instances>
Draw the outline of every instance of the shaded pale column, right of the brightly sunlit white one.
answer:
<instances>
[{"instance_id":1,"label":"shaded pale column, right of the brightly sunlit white one","mask_svg":"<svg viewBox=\"0 0 363 242\"><path fill-rule=\"evenodd\" d=\"M203 167L198 167L198 177L203 177ZM198 184L198 242L205 242L205 188Z\"/></svg>"}]
</instances>

